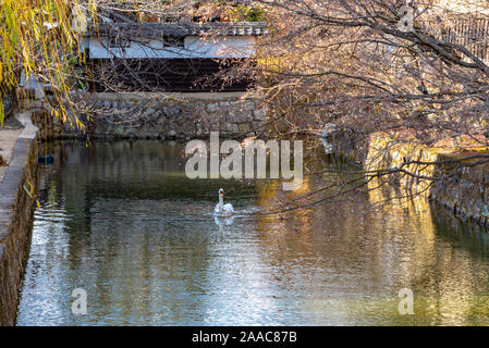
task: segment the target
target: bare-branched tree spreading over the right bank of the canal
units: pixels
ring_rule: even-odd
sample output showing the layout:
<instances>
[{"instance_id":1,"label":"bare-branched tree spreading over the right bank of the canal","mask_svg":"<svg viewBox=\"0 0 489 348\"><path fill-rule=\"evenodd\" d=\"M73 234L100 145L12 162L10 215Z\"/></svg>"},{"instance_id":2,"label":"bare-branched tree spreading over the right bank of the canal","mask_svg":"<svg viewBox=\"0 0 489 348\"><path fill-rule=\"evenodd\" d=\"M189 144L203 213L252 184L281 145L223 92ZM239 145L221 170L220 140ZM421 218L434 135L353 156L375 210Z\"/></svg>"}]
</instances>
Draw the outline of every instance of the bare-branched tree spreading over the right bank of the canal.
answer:
<instances>
[{"instance_id":1,"label":"bare-branched tree spreading over the right bank of the canal","mask_svg":"<svg viewBox=\"0 0 489 348\"><path fill-rule=\"evenodd\" d=\"M340 192L425 182L412 192L417 195L466 166L489 162L487 1L254 3L267 10L270 35L259 42L261 69L254 74L260 83L253 97L269 105L271 128L281 136L340 130L339 150L366 164L350 172L358 176L347 176ZM382 135L382 148L362 158L372 135ZM416 151L390 158L403 147ZM432 159L423 152L433 148L452 153ZM328 171L337 170L317 174ZM316 192L292 207L323 201L314 199Z\"/></svg>"}]
</instances>

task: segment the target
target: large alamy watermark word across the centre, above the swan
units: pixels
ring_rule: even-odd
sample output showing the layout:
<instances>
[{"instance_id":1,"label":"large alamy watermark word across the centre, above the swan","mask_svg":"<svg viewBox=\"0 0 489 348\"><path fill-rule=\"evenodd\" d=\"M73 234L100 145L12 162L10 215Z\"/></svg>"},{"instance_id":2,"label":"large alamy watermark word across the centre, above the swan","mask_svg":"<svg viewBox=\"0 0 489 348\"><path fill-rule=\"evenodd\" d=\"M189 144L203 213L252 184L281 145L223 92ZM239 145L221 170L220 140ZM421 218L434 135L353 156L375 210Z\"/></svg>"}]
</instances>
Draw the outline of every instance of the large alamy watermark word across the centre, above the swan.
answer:
<instances>
[{"instance_id":1,"label":"large alamy watermark word across the centre, above the swan","mask_svg":"<svg viewBox=\"0 0 489 348\"><path fill-rule=\"evenodd\" d=\"M291 163L290 140L271 139L265 142L255 139L245 140L243 145L236 140L225 140L220 144L219 132L210 133L209 149L205 141L192 140L187 144L185 153L192 156L185 164L185 174L191 179L209 177L267 178L267 157L269 157L269 178L290 179L290 182L282 183L283 190L295 190L303 185L303 140L294 140L293 163ZM220 161L221 154L227 154L222 161ZM208 163L209 157L210 163ZM291 164L293 164L292 170Z\"/></svg>"}]
</instances>

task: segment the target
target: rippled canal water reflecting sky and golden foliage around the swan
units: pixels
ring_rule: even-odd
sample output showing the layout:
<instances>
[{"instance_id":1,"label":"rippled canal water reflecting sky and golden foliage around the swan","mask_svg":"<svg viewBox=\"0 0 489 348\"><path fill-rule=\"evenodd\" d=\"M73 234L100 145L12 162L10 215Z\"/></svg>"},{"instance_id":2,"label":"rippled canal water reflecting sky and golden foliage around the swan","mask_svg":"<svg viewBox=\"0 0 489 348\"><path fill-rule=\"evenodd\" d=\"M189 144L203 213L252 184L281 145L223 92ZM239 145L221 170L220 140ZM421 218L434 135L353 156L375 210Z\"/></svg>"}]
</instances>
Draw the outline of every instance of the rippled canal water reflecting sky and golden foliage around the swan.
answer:
<instances>
[{"instance_id":1,"label":"rippled canal water reflecting sky and golden foliage around the swan","mask_svg":"<svg viewBox=\"0 0 489 348\"><path fill-rule=\"evenodd\" d=\"M220 187L253 212L321 183L284 194L277 181L191 181L172 142L51 151L17 325L489 324L487 233L424 201L374 207L380 194L352 192L282 217L216 220ZM85 315L72 312L80 288ZM401 289L414 314L400 313Z\"/></svg>"}]
</instances>

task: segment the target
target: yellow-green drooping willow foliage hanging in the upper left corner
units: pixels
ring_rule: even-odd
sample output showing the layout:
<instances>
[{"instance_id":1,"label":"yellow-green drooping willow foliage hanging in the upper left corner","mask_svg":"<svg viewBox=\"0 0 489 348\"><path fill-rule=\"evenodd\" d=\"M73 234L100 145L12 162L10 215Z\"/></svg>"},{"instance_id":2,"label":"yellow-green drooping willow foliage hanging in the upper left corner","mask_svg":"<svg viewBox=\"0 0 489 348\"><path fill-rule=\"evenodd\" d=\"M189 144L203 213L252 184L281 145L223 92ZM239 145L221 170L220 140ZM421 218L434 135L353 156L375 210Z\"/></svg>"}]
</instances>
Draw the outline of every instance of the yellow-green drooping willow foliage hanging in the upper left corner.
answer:
<instances>
[{"instance_id":1,"label":"yellow-green drooping willow foliage hanging in the upper left corner","mask_svg":"<svg viewBox=\"0 0 489 348\"><path fill-rule=\"evenodd\" d=\"M68 100L70 104L70 87L76 79L72 66L84 59L78 45L82 33L77 27L83 23L76 18L82 18L82 11L95 11L95 1L1 0L1 95L15 88L21 79L30 77L51 84L56 99ZM63 104L66 103L59 102L53 113L65 119ZM1 124L3 119L0 99Z\"/></svg>"}]
</instances>

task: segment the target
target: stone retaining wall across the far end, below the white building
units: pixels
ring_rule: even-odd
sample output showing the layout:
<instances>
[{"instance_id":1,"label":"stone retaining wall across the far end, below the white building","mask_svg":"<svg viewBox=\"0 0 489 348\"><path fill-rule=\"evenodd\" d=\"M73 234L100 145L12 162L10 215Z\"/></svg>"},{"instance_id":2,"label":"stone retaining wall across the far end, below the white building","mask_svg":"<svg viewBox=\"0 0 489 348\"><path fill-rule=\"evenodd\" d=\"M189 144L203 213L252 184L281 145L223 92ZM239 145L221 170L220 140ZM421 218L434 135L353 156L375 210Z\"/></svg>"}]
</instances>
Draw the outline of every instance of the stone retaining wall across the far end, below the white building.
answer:
<instances>
[{"instance_id":1,"label":"stone retaining wall across the far end, below the white building","mask_svg":"<svg viewBox=\"0 0 489 348\"><path fill-rule=\"evenodd\" d=\"M94 94L86 107L90 116L80 114L86 132L52 117L42 101L26 100L23 105L32 110L41 138L188 139L208 138L213 130L221 137L244 138L264 130L267 112L262 104L220 95Z\"/></svg>"}]
</instances>

